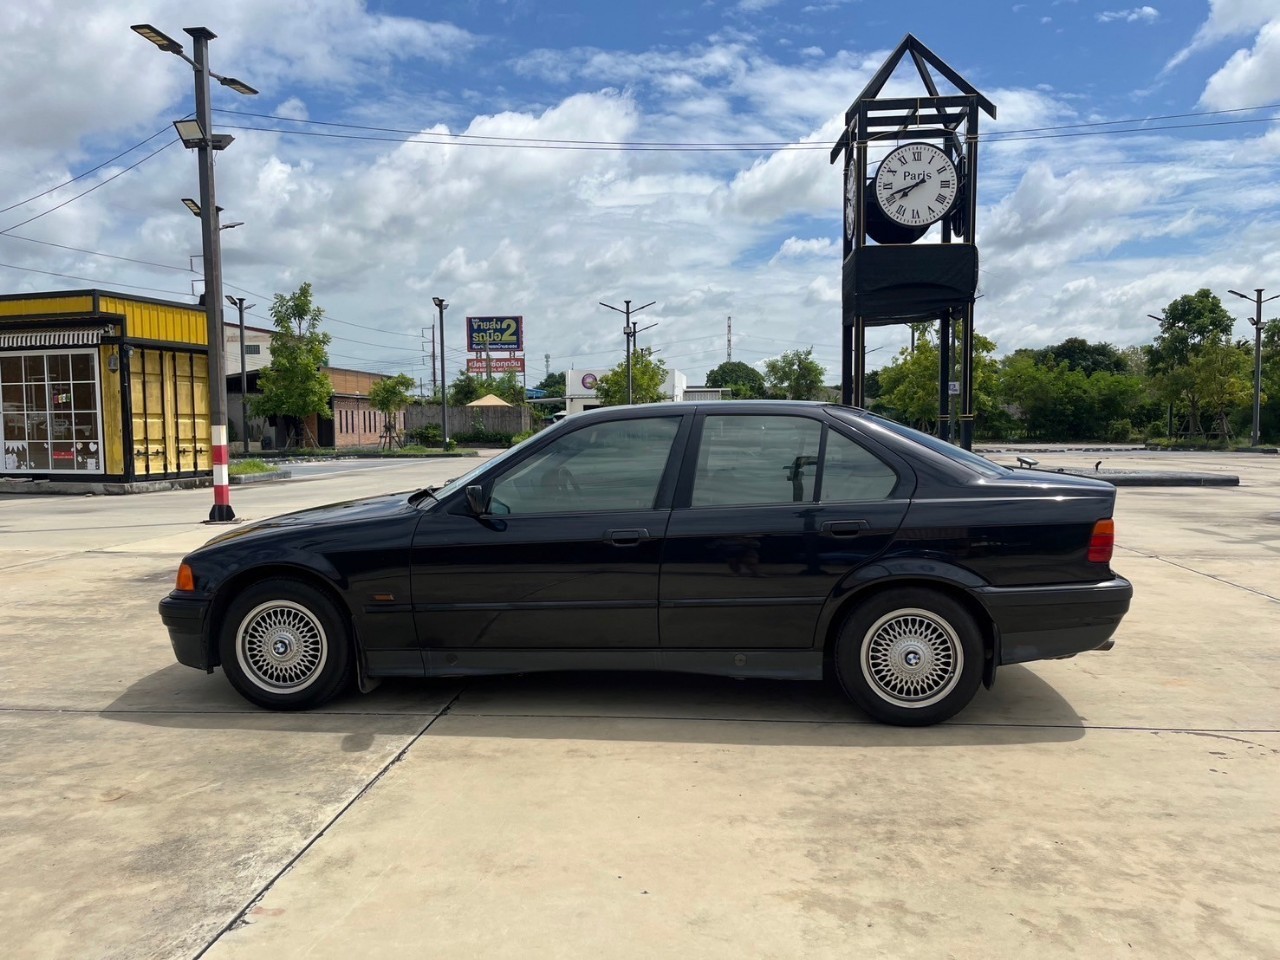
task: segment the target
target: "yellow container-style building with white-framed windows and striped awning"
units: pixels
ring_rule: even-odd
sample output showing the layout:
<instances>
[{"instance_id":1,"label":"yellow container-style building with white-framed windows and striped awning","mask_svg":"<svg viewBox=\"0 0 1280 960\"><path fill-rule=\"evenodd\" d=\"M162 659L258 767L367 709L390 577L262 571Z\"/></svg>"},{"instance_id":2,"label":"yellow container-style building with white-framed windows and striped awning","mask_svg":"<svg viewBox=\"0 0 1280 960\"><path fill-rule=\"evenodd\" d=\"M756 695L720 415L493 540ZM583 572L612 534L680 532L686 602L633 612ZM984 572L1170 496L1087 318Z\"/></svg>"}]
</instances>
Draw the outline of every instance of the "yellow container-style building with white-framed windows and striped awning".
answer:
<instances>
[{"instance_id":1,"label":"yellow container-style building with white-framed windows and striped awning","mask_svg":"<svg viewBox=\"0 0 1280 960\"><path fill-rule=\"evenodd\" d=\"M106 291L0 296L0 477L212 474L205 308Z\"/></svg>"}]
</instances>

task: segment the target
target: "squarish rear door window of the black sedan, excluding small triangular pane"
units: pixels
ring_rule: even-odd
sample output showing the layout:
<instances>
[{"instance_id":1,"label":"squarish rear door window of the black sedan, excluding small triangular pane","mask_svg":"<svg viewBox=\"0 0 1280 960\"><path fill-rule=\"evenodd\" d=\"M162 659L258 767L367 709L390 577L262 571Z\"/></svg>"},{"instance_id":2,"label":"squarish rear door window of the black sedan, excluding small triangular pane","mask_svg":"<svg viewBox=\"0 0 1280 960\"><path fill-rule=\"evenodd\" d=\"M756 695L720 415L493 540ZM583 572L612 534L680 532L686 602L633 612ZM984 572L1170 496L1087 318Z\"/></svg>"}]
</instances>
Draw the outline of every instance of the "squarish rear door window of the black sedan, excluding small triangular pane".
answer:
<instances>
[{"instance_id":1,"label":"squarish rear door window of the black sedan, excluding small triangular pane","mask_svg":"<svg viewBox=\"0 0 1280 960\"><path fill-rule=\"evenodd\" d=\"M694 474L694 507L813 500L822 424L795 416L709 416Z\"/></svg>"}]
</instances>

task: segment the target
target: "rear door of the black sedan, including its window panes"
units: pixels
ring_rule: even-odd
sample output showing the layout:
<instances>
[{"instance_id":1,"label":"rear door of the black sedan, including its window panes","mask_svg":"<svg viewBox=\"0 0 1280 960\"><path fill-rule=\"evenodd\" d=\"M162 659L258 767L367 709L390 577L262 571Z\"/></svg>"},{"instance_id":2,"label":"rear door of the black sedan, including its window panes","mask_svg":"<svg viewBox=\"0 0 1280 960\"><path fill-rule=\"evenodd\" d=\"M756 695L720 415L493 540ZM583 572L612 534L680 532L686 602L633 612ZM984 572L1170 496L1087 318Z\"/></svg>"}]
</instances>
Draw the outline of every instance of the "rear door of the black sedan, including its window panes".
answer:
<instances>
[{"instance_id":1,"label":"rear door of the black sedan, including its window panes","mask_svg":"<svg viewBox=\"0 0 1280 960\"><path fill-rule=\"evenodd\" d=\"M914 474L817 410L699 416L694 447L663 550L663 649L812 646L837 584L901 525Z\"/></svg>"}]
</instances>

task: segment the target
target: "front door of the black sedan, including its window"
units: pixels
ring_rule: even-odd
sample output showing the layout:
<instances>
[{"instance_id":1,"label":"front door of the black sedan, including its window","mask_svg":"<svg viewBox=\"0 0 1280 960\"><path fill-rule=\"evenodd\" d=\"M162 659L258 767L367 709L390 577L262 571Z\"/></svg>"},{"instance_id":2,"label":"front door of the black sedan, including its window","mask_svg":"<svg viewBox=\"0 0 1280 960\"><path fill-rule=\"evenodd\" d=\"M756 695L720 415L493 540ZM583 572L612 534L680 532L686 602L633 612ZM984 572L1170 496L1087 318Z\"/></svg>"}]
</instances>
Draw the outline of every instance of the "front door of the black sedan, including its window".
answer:
<instances>
[{"instance_id":1,"label":"front door of the black sedan, including its window","mask_svg":"<svg viewBox=\"0 0 1280 960\"><path fill-rule=\"evenodd\" d=\"M476 516L422 518L413 611L429 649L657 648L658 572L687 426L626 411L503 463Z\"/></svg>"}]
</instances>

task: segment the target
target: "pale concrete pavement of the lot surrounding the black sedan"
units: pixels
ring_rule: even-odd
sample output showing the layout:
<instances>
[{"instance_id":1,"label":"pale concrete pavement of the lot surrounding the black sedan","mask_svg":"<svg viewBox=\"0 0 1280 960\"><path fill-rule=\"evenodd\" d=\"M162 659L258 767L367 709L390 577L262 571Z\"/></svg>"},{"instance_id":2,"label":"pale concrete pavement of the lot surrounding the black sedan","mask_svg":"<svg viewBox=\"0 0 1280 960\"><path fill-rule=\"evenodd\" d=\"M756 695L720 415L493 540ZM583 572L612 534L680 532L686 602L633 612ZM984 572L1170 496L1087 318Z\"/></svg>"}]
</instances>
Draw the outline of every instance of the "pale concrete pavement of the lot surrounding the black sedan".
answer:
<instances>
[{"instance_id":1,"label":"pale concrete pavement of the lot surrounding the black sedan","mask_svg":"<svg viewBox=\"0 0 1280 960\"><path fill-rule=\"evenodd\" d=\"M1280 461L1156 456L1242 483L1121 489L1115 650L1006 668L927 730L828 684L681 676L269 714L174 664L155 614L207 490L0 499L5 952L1276 956ZM457 470L233 497L266 516Z\"/></svg>"}]
</instances>

